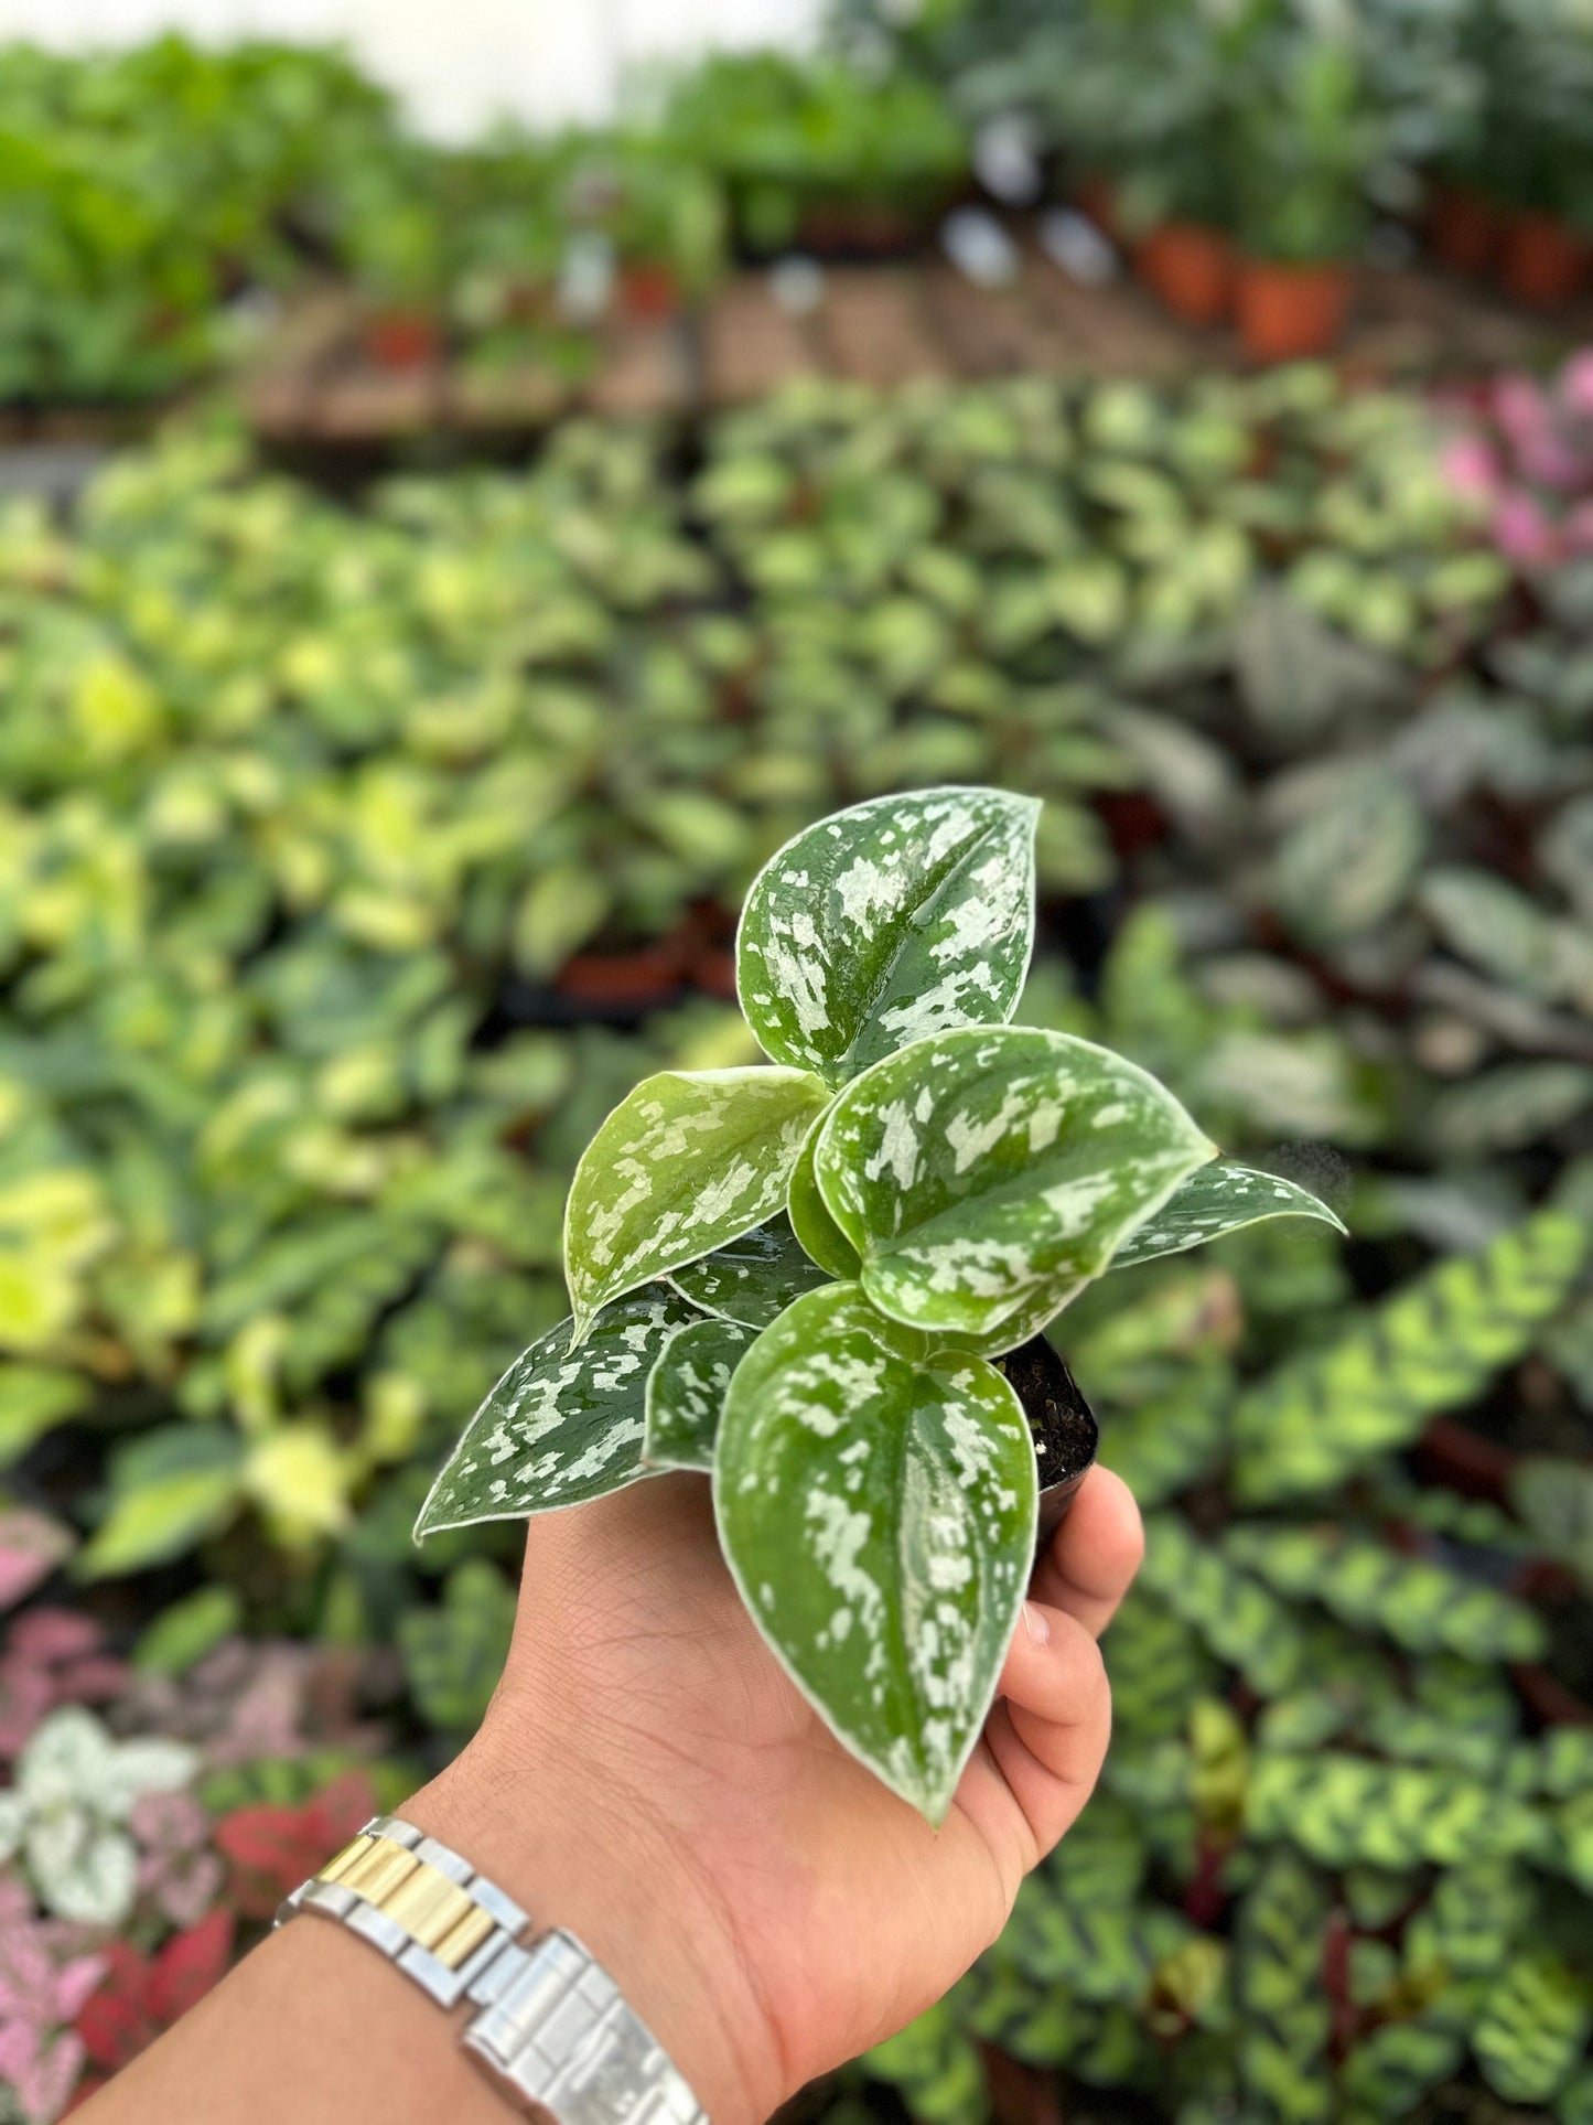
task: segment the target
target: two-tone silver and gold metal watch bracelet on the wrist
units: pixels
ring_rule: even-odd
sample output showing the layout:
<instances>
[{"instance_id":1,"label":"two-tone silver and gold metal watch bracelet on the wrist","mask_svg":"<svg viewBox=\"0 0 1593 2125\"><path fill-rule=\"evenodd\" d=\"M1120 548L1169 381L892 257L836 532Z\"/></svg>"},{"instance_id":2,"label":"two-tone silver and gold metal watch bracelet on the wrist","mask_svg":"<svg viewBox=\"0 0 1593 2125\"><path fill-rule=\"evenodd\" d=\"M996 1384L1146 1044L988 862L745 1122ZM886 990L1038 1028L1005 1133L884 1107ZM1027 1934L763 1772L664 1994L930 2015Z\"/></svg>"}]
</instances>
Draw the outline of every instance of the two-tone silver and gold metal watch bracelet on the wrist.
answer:
<instances>
[{"instance_id":1,"label":"two-tone silver and gold metal watch bracelet on the wrist","mask_svg":"<svg viewBox=\"0 0 1593 2125\"><path fill-rule=\"evenodd\" d=\"M461 2042L556 2125L707 2125L663 2044L573 1934L520 1940L527 1915L414 1823L378 1815L276 1912L333 1919L442 2008L478 2008Z\"/></svg>"}]
</instances>

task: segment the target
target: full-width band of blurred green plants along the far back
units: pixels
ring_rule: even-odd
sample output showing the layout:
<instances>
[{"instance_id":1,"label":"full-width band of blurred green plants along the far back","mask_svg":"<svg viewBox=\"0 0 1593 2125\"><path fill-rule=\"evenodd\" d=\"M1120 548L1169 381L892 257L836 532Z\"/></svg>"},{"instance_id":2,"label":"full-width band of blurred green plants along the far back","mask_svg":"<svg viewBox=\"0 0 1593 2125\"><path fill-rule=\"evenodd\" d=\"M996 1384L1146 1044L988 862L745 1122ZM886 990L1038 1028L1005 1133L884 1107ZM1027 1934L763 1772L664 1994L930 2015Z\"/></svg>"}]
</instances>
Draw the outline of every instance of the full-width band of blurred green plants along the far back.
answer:
<instances>
[{"instance_id":1,"label":"full-width band of blurred green plants along the far back","mask_svg":"<svg viewBox=\"0 0 1593 2125\"><path fill-rule=\"evenodd\" d=\"M928 238L1005 130L1257 257L1357 255L1429 178L1593 230L1585 0L839 0L818 51L709 53L601 128L423 140L333 47L0 45L0 406L170 393L272 295L338 276L367 353L578 378L612 306L661 317L731 255ZM986 142L988 144L988 142ZM996 157L1000 162L1000 157ZM1007 198L1009 193L1003 193Z\"/></svg>"}]
</instances>

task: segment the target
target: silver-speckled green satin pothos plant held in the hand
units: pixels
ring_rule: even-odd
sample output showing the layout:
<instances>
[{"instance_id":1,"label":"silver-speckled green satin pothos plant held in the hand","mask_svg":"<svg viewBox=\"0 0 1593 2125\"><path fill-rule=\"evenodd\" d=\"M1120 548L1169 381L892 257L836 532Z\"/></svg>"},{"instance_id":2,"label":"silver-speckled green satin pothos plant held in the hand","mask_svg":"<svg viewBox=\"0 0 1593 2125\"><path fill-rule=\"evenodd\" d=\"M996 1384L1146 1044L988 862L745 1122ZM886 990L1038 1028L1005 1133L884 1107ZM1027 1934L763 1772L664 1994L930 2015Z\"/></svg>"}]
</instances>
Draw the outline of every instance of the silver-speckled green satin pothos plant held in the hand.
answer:
<instances>
[{"instance_id":1,"label":"silver-speckled green satin pothos plant held in the hand","mask_svg":"<svg viewBox=\"0 0 1593 2125\"><path fill-rule=\"evenodd\" d=\"M1217 1156L1124 1056L1009 1018L1039 805L939 788L820 820L758 873L737 988L767 1062L663 1071L576 1169L573 1315L472 1417L416 1534L714 1483L758 1630L939 1823L990 1708L1039 1475L996 1362L1094 1277L1332 1218Z\"/></svg>"}]
</instances>

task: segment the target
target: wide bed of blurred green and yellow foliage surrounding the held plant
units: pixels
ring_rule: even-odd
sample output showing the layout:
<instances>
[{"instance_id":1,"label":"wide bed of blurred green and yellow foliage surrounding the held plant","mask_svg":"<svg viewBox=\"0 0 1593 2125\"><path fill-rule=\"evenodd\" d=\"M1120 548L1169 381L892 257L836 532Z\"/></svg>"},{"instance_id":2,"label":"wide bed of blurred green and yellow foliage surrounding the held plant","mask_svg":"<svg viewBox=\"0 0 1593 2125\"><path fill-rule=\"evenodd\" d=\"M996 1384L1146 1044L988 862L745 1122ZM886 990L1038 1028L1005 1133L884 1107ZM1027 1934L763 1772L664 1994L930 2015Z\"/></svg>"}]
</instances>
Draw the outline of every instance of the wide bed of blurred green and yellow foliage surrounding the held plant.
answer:
<instances>
[{"instance_id":1,"label":"wide bed of blurred green and yellow foliage surrounding the held plant","mask_svg":"<svg viewBox=\"0 0 1593 2125\"><path fill-rule=\"evenodd\" d=\"M983 2114L990 2044L1189 2125L1457 2080L1585 2116L1589 586L1514 586L1421 406L1308 370L796 389L675 442L578 423L350 510L183 427L0 521L17 1504L136 1613L161 1730L246 1617L384 1655L435 1762L514 1530L416 1556L414 1509L563 1311L601 1114L743 1058L748 876L875 790L1043 795L1024 1016L1355 1239L1070 1311L1151 1530L1109 1774L867 2074L926 2121Z\"/></svg>"}]
</instances>

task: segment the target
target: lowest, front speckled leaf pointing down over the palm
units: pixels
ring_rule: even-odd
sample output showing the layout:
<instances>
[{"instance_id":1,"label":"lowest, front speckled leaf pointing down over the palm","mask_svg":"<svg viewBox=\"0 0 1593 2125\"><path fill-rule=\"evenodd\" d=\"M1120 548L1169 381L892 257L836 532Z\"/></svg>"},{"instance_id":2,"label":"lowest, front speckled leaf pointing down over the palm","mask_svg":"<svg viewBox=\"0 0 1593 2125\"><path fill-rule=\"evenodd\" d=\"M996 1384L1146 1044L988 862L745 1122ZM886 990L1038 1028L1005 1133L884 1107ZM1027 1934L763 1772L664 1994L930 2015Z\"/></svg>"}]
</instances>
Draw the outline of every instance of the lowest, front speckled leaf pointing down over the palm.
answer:
<instances>
[{"instance_id":1,"label":"lowest, front speckled leaf pointing down over the palm","mask_svg":"<svg viewBox=\"0 0 1593 2125\"><path fill-rule=\"evenodd\" d=\"M782 1664L939 1823L1034 1558L1034 1447L1013 1390L981 1358L932 1352L856 1284L809 1292L735 1373L714 1502Z\"/></svg>"}]
</instances>

